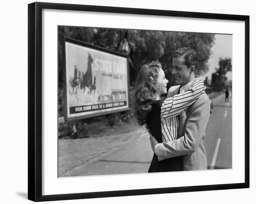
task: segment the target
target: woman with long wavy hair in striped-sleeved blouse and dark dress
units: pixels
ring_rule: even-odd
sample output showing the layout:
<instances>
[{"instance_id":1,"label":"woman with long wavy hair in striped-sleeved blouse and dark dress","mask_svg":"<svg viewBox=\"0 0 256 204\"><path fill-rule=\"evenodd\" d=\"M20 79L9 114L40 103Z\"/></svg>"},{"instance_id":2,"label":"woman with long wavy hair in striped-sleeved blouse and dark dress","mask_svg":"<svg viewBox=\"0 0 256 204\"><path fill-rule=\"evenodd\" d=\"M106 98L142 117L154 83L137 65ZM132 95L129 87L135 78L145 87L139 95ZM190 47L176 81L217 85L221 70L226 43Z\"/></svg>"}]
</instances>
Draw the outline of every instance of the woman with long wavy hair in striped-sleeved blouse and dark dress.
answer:
<instances>
[{"instance_id":1,"label":"woman with long wavy hair in striped-sleeved blouse and dark dress","mask_svg":"<svg viewBox=\"0 0 256 204\"><path fill-rule=\"evenodd\" d=\"M175 97L160 99L162 94L167 93L168 80L158 61L152 61L143 65L138 73L135 83L134 109L139 125L145 125L148 132L158 143L167 142L178 138L179 118L178 115L205 90L201 79L195 78L186 92L177 94ZM169 137L162 134L161 125L169 124ZM182 156L167 158L158 161L154 153L148 172L182 171Z\"/></svg>"}]
</instances>

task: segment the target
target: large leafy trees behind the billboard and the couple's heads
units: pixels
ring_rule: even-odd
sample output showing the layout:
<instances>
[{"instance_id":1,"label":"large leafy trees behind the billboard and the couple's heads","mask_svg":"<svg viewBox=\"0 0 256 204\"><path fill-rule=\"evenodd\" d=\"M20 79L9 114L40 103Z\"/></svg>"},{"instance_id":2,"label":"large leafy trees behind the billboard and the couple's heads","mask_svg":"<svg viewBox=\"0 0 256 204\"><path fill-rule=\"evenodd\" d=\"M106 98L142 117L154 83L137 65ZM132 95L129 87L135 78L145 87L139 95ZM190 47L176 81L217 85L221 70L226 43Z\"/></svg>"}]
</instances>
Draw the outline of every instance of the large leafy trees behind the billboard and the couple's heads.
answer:
<instances>
[{"instance_id":1,"label":"large leafy trees behind the billboard and the couple's heads","mask_svg":"<svg viewBox=\"0 0 256 204\"><path fill-rule=\"evenodd\" d=\"M189 46L199 56L196 70L198 76L209 70L208 59L211 47L214 45L214 34L182 33L167 31L108 29L92 27L59 26L58 66L59 76L63 76L65 67L64 46L65 37L81 40L95 46L124 53L128 55L130 84L135 82L136 76L143 64L152 60L159 60L169 80L168 86L174 85L172 72L172 53L180 47ZM63 89L63 79L59 77L59 88Z\"/></svg>"}]
</instances>

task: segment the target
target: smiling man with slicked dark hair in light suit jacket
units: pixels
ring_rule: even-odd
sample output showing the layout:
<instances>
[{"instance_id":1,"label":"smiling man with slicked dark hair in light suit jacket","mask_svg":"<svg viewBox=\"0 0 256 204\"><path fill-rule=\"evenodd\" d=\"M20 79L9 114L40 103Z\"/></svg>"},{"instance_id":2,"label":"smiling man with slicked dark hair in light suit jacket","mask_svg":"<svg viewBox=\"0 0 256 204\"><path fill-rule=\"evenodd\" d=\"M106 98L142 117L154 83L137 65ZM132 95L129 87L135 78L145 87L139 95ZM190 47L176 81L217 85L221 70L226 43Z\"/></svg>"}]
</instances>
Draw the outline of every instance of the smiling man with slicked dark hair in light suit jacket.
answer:
<instances>
[{"instance_id":1,"label":"smiling man with slicked dark hair in light suit jacket","mask_svg":"<svg viewBox=\"0 0 256 204\"><path fill-rule=\"evenodd\" d=\"M182 47L173 54L173 71L177 86L170 87L168 97L186 92L195 79L198 64L197 53ZM178 139L157 143L150 136L150 143L159 161L183 155L183 170L206 170L207 159L204 148L205 129L209 121L210 104L206 93L179 115ZM163 124L163 126L168 123ZM164 129L162 128L162 132ZM163 135L163 134L162 134Z\"/></svg>"}]
</instances>

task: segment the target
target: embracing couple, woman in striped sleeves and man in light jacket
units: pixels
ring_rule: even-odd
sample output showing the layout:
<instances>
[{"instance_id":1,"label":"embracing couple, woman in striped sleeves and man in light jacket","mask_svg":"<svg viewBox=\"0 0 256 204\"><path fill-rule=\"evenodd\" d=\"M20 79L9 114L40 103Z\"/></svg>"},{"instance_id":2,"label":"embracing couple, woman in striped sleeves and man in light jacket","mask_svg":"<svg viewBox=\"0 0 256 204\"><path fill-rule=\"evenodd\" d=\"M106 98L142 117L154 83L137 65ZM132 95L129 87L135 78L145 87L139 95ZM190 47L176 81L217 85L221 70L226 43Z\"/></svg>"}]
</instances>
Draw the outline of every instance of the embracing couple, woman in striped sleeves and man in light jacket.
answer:
<instances>
[{"instance_id":1,"label":"embracing couple, woman in striped sleeves and man in light jacket","mask_svg":"<svg viewBox=\"0 0 256 204\"><path fill-rule=\"evenodd\" d=\"M183 47L173 53L175 84L168 90L162 66L143 65L135 84L135 113L150 135L154 156L148 172L207 170L204 148L210 103L201 79L195 78L197 53Z\"/></svg>"}]
</instances>

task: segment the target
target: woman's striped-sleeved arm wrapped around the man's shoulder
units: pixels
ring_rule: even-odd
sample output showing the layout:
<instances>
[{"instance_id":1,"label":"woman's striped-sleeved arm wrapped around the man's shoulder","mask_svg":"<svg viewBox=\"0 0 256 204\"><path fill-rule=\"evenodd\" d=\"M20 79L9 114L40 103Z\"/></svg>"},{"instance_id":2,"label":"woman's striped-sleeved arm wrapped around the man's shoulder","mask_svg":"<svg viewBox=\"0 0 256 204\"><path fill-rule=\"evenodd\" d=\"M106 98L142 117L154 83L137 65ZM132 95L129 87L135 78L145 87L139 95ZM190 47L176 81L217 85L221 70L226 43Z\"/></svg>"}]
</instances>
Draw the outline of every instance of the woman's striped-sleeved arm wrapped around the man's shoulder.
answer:
<instances>
[{"instance_id":1,"label":"woman's striped-sleeved arm wrapped around the man's shoulder","mask_svg":"<svg viewBox=\"0 0 256 204\"><path fill-rule=\"evenodd\" d=\"M184 109L189 107L189 105L193 104L204 90L205 86L202 79L194 79L186 92L177 94L174 97L167 98L163 101L161 106L161 117L169 118L179 115Z\"/></svg>"}]
</instances>

